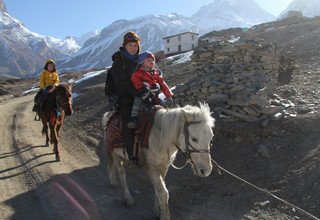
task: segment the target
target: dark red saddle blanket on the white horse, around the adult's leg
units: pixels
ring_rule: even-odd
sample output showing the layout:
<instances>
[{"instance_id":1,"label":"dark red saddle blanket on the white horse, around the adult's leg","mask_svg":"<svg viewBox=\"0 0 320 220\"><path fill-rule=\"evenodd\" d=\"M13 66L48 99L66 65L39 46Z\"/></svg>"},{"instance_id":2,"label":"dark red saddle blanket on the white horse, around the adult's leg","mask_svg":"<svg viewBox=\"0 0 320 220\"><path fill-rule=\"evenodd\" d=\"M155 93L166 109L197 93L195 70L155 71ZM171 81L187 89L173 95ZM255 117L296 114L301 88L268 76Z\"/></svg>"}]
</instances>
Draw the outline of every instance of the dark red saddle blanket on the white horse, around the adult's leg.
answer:
<instances>
[{"instance_id":1,"label":"dark red saddle blanket on the white horse, around the adult's leg","mask_svg":"<svg viewBox=\"0 0 320 220\"><path fill-rule=\"evenodd\" d=\"M138 118L138 128L135 131L134 152L139 152L140 148L149 148L149 134L153 125L154 115L159 108L161 107L141 108ZM114 148L122 146L122 126L121 116L119 112L115 112L110 117L105 128L107 155L110 155Z\"/></svg>"}]
</instances>

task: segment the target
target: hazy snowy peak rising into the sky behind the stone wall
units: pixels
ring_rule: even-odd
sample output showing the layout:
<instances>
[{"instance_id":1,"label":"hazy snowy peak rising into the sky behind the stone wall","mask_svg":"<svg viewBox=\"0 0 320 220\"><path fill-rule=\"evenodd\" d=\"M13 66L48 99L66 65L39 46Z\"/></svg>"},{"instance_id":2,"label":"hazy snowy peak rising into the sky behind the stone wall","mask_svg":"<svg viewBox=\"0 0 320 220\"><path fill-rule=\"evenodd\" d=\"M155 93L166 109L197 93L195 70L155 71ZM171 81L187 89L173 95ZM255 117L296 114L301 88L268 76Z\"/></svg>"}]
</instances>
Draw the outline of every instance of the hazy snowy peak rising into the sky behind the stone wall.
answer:
<instances>
[{"instance_id":1,"label":"hazy snowy peak rising into the sky behind the stone wall","mask_svg":"<svg viewBox=\"0 0 320 220\"><path fill-rule=\"evenodd\" d=\"M191 16L191 22L199 27L201 34L231 27L251 27L273 19L274 16L254 0L215 0Z\"/></svg>"}]
</instances>

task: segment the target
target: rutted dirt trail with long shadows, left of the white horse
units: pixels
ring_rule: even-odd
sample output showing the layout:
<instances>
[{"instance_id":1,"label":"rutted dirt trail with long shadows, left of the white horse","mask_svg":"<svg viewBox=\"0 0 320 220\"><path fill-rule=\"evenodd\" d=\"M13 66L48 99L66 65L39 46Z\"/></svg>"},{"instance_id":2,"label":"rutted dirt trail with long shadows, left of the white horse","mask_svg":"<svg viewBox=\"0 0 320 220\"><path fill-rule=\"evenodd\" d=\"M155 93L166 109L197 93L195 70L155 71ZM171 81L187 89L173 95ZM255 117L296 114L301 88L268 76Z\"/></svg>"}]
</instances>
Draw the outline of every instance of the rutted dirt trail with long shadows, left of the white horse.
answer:
<instances>
[{"instance_id":1,"label":"rutted dirt trail with long shadows, left of the white horse","mask_svg":"<svg viewBox=\"0 0 320 220\"><path fill-rule=\"evenodd\" d=\"M32 104L33 96L0 103L0 219L153 217L151 185L146 184L143 193L133 188L133 195L140 197L141 202L137 203L140 207L127 207L119 190L111 188L105 180L97 156L103 149L96 152L99 143L92 145L97 140L86 137L81 130L62 127L61 162L56 162L52 145L45 146L41 122L34 121ZM130 175L140 176L133 183L139 186L147 178L138 172L129 172L128 179Z\"/></svg>"}]
</instances>

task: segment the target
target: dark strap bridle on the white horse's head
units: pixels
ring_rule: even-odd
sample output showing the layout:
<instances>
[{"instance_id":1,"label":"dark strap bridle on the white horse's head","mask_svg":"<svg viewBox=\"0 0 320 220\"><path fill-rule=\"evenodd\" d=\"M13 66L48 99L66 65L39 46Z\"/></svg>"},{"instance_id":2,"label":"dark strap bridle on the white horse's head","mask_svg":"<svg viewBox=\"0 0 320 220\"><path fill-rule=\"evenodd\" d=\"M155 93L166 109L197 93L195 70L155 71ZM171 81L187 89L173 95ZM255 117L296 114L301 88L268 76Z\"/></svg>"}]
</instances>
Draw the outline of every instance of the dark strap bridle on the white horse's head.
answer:
<instances>
[{"instance_id":1,"label":"dark strap bridle on the white horse's head","mask_svg":"<svg viewBox=\"0 0 320 220\"><path fill-rule=\"evenodd\" d=\"M184 157L186 158L186 163L182 166L182 167L176 167L174 164L173 164L173 161L170 161L171 163L171 166L173 166L175 169L183 169L188 163L192 163L193 165L194 162L193 160L191 159L191 153L207 153L209 154L210 151L208 149L196 149L194 146L192 146L192 144L190 143L189 141L189 126L191 124L200 124L202 123L202 121L192 121L192 122L185 122L184 126L183 126L183 134L184 134L184 138L185 138L185 144L186 144L186 149L185 151L183 151L181 149L181 147L179 147L178 145L175 144L176 148L178 149L179 152L181 152Z\"/></svg>"}]
</instances>

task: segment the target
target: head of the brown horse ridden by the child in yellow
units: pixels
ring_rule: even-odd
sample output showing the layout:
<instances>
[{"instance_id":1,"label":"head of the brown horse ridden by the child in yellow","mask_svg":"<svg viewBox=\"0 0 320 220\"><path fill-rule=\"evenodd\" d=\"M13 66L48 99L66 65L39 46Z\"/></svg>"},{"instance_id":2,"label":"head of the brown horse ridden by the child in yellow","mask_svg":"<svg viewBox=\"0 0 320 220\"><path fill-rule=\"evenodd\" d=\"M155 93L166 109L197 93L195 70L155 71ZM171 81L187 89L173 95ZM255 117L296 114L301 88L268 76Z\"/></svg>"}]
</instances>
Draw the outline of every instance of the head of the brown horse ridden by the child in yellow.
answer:
<instances>
[{"instance_id":1,"label":"head of the brown horse ridden by the child in yellow","mask_svg":"<svg viewBox=\"0 0 320 220\"><path fill-rule=\"evenodd\" d=\"M61 108L65 111L67 116L73 112L72 109L72 86L71 84L60 84L57 87L58 97Z\"/></svg>"}]
</instances>

